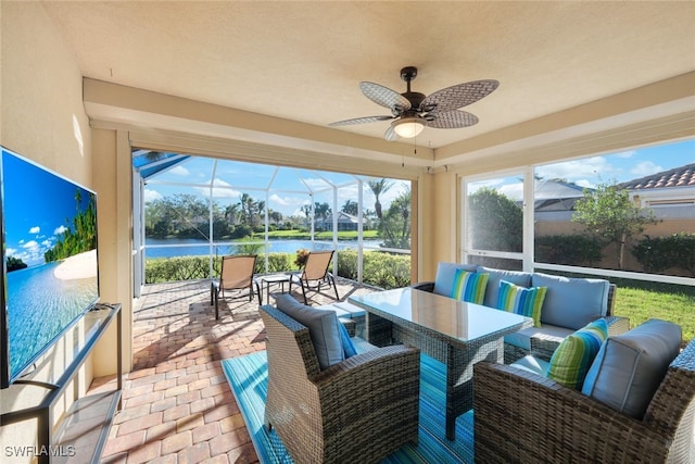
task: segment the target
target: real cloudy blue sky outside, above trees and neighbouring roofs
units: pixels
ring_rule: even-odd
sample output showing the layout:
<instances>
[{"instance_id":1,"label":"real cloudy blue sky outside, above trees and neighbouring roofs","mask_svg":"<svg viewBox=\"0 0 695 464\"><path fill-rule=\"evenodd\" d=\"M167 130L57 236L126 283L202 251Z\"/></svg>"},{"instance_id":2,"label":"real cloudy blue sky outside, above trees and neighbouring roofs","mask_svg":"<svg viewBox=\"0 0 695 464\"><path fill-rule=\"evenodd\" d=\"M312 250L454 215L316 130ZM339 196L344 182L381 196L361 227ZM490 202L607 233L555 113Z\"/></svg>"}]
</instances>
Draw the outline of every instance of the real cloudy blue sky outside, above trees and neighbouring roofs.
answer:
<instances>
[{"instance_id":1,"label":"real cloudy blue sky outside, above trees and neighbouring roofs","mask_svg":"<svg viewBox=\"0 0 695 464\"><path fill-rule=\"evenodd\" d=\"M695 163L695 140L687 140L635 150L606 153L563 163L536 167L536 174L543 178L564 178L582 187L594 187L612 180L626 181L677 166ZM214 174L213 174L214 172ZM271 185L268 206L285 215L301 215L301 208L308 203L308 191L315 191L315 201L332 204L329 183L343 186L338 190L339 209L346 200L356 201L356 176L327 172L313 172L289 167L276 167L235 161L191 158L166 173L157 175L146 186L146 201L163 198L175 192L207 196L214 175L215 200L222 204L237 203L243 192L256 200L265 200L265 190ZM367 177L362 177L365 181ZM165 183L157 185L156 183ZM393 187L381 198L388 206L391 201L405 191L408 183L393 180ZM193 184L192 186L190 184ZM492 186L510 198L519 199L522 186L518 176L491 179L477 183L476 187ZM374 195L364 190L365 208L374 209Z\"/></svg>"}]
</instances>

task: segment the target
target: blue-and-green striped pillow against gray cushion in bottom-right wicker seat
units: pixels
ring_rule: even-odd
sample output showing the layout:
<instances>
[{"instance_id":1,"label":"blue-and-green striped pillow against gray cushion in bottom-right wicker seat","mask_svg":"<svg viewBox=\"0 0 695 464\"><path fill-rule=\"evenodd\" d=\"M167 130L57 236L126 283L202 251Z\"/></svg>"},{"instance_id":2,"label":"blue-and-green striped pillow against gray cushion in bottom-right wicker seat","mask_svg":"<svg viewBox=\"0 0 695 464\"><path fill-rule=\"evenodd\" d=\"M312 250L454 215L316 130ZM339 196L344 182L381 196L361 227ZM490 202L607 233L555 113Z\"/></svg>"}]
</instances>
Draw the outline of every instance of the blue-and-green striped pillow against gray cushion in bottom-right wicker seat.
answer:
<instances>
[{"instance_id":1,"label":"blue-and-green striped pillow against gray cushion in bottom-right wicker seat","mask_svg":"<svg viewBox=\"0 0 695 464\"><path fill-rule=\"evenodd\" d=\"M553 353L545 376L566 387L581 390L586 373L608 338L608 324L597 319L568 335Z\"/></svg>"}]
</instances>

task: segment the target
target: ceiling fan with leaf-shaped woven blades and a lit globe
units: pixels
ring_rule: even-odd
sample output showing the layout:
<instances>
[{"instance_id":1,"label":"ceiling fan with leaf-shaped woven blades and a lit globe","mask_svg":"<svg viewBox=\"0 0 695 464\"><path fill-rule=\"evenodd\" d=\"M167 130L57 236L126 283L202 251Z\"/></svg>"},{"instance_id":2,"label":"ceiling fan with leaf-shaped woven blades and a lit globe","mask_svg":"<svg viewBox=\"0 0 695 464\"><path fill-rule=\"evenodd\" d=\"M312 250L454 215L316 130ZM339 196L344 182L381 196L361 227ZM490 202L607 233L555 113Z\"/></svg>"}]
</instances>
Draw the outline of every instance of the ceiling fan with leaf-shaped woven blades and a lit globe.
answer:
<instances>
[{"instance_id":1,"label":"ceiling fan with leaf-shaped woven blades and a lit globe","mask_svg":"<svg viewBox=\"0 0 695 464\"><path fill-rule=\"evenodd\" d=\"M473 80L446 87L426 97L424 93L410 91L410 81L415 77L417 77L417 67L406 66L401 70L401 78L407 84L407 90L404 93L375 83L359 83L359 89L365 97L391 110L392 115L355 117L330 123L329 126L395 120L384 134L384 138L389 141L397 140L399 137L415 137L425 126L438 129L469 127L478 124L478 117L458 109L489 96L500 85L500 81L493 79Z\"/></svg>"}]
</instances>

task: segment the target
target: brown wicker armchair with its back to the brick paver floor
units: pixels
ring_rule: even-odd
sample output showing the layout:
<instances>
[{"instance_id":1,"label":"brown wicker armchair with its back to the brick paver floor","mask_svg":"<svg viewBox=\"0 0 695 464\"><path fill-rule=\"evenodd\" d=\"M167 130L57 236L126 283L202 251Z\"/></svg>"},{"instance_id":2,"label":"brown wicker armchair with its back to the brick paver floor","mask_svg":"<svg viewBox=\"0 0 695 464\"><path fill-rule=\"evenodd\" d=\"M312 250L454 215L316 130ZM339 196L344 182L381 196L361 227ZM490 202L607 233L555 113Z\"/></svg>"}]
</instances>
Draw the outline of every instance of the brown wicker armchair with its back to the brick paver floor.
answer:
<instances>
[{"instance_id":1,"label":"brown wicker armchair with its back to the brick paver floor","mask_svg":"<svg viewBox=\"0 0 695 464\"><path fill-rule=\"evenodd\" d=\"M264 305L266 427L296 463L379 462L417 443L420 358L415 348L374 349L320 371L308 329Z\"/></svg>"}]
</instances>

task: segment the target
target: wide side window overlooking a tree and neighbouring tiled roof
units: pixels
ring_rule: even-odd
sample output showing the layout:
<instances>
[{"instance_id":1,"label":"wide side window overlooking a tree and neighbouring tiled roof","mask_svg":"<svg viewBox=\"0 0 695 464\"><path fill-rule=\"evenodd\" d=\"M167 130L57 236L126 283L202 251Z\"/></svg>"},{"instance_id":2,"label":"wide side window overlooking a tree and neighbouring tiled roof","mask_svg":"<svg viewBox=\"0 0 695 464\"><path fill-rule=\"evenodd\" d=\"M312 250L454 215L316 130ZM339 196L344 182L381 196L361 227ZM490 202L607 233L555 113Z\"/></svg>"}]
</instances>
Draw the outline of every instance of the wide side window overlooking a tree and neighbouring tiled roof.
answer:
<instances>
[{"instance_id":1,"label":"wide side window overlooking a tree and neighbouring tiled roof","mask_svg":"<svg viewBox=\"0 0 695 464\"><path fill-rule=\"evenodd\" d=\"M693 285L695 140L464 178L463 191L464 262Z\"/></svg>"}]
</instances>

